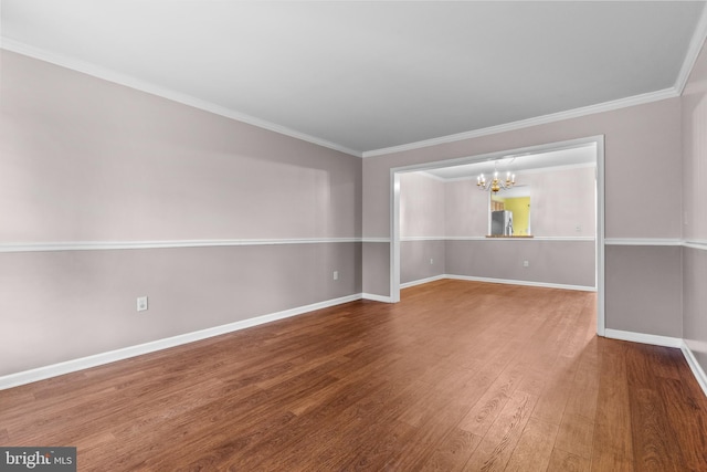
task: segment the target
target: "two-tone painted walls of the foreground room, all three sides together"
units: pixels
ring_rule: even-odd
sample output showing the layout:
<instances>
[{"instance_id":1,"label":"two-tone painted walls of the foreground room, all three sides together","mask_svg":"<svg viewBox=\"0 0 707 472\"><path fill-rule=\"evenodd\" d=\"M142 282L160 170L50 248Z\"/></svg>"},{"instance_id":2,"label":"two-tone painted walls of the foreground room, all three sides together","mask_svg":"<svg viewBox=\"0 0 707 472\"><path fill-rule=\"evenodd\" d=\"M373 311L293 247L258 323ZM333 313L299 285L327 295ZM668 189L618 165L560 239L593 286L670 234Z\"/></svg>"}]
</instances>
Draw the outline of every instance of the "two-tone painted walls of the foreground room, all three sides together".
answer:
<instances>
[{"instance_id":1,"label":"two-tone painted walls of the foreground room, all three sides together","mask_svg":"<svg viewBox=\"0 0 707 472\"><path fill-rule=\"evenodd\" d=\"M391 169L599 135L606 328L707 366L704 52L683 97L362 162L0 54L0 376L389 297Z\"/></svg>"}]
</instances>

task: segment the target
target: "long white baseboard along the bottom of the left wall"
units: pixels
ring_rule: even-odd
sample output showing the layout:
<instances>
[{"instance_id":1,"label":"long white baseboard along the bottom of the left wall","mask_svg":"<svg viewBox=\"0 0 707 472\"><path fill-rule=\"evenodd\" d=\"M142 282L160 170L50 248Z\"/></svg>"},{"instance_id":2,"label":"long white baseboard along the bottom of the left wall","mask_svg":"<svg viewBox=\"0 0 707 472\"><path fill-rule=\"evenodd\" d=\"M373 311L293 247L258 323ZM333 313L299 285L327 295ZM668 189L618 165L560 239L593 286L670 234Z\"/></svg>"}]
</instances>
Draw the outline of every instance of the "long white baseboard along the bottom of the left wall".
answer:
<instances>
[{"instance_id":1,"label":"long white baseboard along the bottom of the left wall","mask_svg":"<svg viewBox=\"0 0 707 472\"><path fill-rule=\"evenodd\" d=\"M361 300L360 293L0 377L0 390Z\"/></svg>"}]
</instances>

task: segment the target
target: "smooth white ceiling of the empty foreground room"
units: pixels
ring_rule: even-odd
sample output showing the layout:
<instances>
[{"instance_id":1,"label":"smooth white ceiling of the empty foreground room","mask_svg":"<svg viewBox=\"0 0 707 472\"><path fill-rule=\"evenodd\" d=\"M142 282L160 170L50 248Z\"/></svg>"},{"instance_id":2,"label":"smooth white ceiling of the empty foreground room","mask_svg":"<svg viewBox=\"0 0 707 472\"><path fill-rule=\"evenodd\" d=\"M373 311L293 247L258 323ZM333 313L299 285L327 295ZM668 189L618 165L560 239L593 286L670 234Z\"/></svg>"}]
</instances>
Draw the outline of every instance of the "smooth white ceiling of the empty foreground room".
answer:
<instances>
[{"instance_id":1,"label":"smooth white ceiling of the empty foreground room","mask_svg":"<svg viewBox=\"0 0 707 472\"><path fill-rule=\"evenodd\" d=\"M677 96L707 30L701 1L0 1L4 49L359 156Z\"/></svg>"}]
</instances>

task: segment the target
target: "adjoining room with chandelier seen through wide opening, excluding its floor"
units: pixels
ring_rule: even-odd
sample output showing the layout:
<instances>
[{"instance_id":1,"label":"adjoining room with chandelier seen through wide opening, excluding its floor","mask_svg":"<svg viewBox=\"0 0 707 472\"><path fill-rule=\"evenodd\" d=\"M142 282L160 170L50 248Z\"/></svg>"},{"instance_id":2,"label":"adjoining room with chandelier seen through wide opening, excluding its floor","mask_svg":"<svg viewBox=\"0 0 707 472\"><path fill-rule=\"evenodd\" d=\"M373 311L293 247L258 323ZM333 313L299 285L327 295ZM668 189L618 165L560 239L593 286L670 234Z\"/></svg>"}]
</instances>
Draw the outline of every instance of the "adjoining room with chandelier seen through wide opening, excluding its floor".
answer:
<instances>
[{"instance_id":1,"label":"adjoining room with chandelier seen through wide opening, excluding its floor","mask_svg":"<svg viewBox=\"0 0 707 472\"><path fill-rule=\"evenodd\" d=\"M597 153L577 144L401 171L401 286L455 277L595 291Z\"/></svg>"}]
</instances>

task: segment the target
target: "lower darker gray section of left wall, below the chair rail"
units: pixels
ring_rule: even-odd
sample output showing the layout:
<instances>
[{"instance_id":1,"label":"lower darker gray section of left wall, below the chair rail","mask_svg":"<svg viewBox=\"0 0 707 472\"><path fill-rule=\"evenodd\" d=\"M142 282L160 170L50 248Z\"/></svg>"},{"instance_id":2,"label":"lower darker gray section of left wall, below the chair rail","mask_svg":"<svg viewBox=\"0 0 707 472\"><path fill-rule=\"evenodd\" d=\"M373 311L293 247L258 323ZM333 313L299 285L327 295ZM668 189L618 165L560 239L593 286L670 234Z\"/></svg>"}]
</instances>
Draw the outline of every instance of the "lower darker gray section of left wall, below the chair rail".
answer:
<instances>
[{"instance_id":1,"label":"lower darker gray section of left wall, below the chair rail","mask_svg":"<svg viewBox=\"0 0 707 472\"><path fill-rule=\"evenodd\" d=\"M360 243L3 253L0 375L357 294L360 260Z\"/></svg>"}]
</instances>

